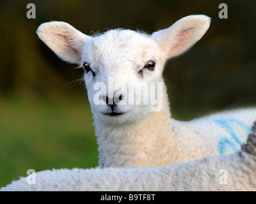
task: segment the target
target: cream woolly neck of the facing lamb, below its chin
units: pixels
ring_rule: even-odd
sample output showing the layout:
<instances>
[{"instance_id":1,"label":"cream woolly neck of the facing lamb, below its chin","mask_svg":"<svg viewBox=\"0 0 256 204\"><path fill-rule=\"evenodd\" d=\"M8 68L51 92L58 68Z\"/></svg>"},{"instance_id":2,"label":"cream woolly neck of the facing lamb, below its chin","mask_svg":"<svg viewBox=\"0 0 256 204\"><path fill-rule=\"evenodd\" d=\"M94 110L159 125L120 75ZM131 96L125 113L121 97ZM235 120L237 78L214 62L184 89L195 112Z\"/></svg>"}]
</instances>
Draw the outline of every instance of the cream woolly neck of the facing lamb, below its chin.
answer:
<instances>
[{"instance_id":1,"label":"cream woolly neck of the facing lamb, below its chin","mask_svg":"<svg viewBox=\"0 0 256 204\"><path fill-rule=\"evenodd\" d=\"M101 167L163 166L175 160L168 103L139 124L95 127L95 130Z\"/></svg>"}]
</instances>

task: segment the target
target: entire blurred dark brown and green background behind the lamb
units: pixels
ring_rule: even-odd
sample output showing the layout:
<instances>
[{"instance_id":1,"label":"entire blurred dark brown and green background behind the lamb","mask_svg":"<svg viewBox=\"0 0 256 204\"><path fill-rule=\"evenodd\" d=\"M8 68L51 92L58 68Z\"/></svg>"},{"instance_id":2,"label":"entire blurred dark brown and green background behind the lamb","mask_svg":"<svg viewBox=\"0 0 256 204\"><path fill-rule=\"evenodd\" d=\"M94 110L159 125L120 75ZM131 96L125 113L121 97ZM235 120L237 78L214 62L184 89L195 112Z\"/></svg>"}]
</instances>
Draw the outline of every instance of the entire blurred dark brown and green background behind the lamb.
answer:
<instances>
[{"instance_id":1,"label":"entire blurred dark brown and green background behind the lamb","mask_svg":"<svg viewBox=\"0 0 256 204\"><path fill-rule=\"evenodd\" d=\"M36 18L28 19L28 3ZM228 18L220 19L220 3ZM189 120L256 104L256 1L94 0L0 2L0 186L35 171L97 166L97 143L83 71L36 36L61 20L86 34L117 27L152 33L186 15L212 18L205 36L166 64L172 115Z\"/></svg>"}]
</instances>

